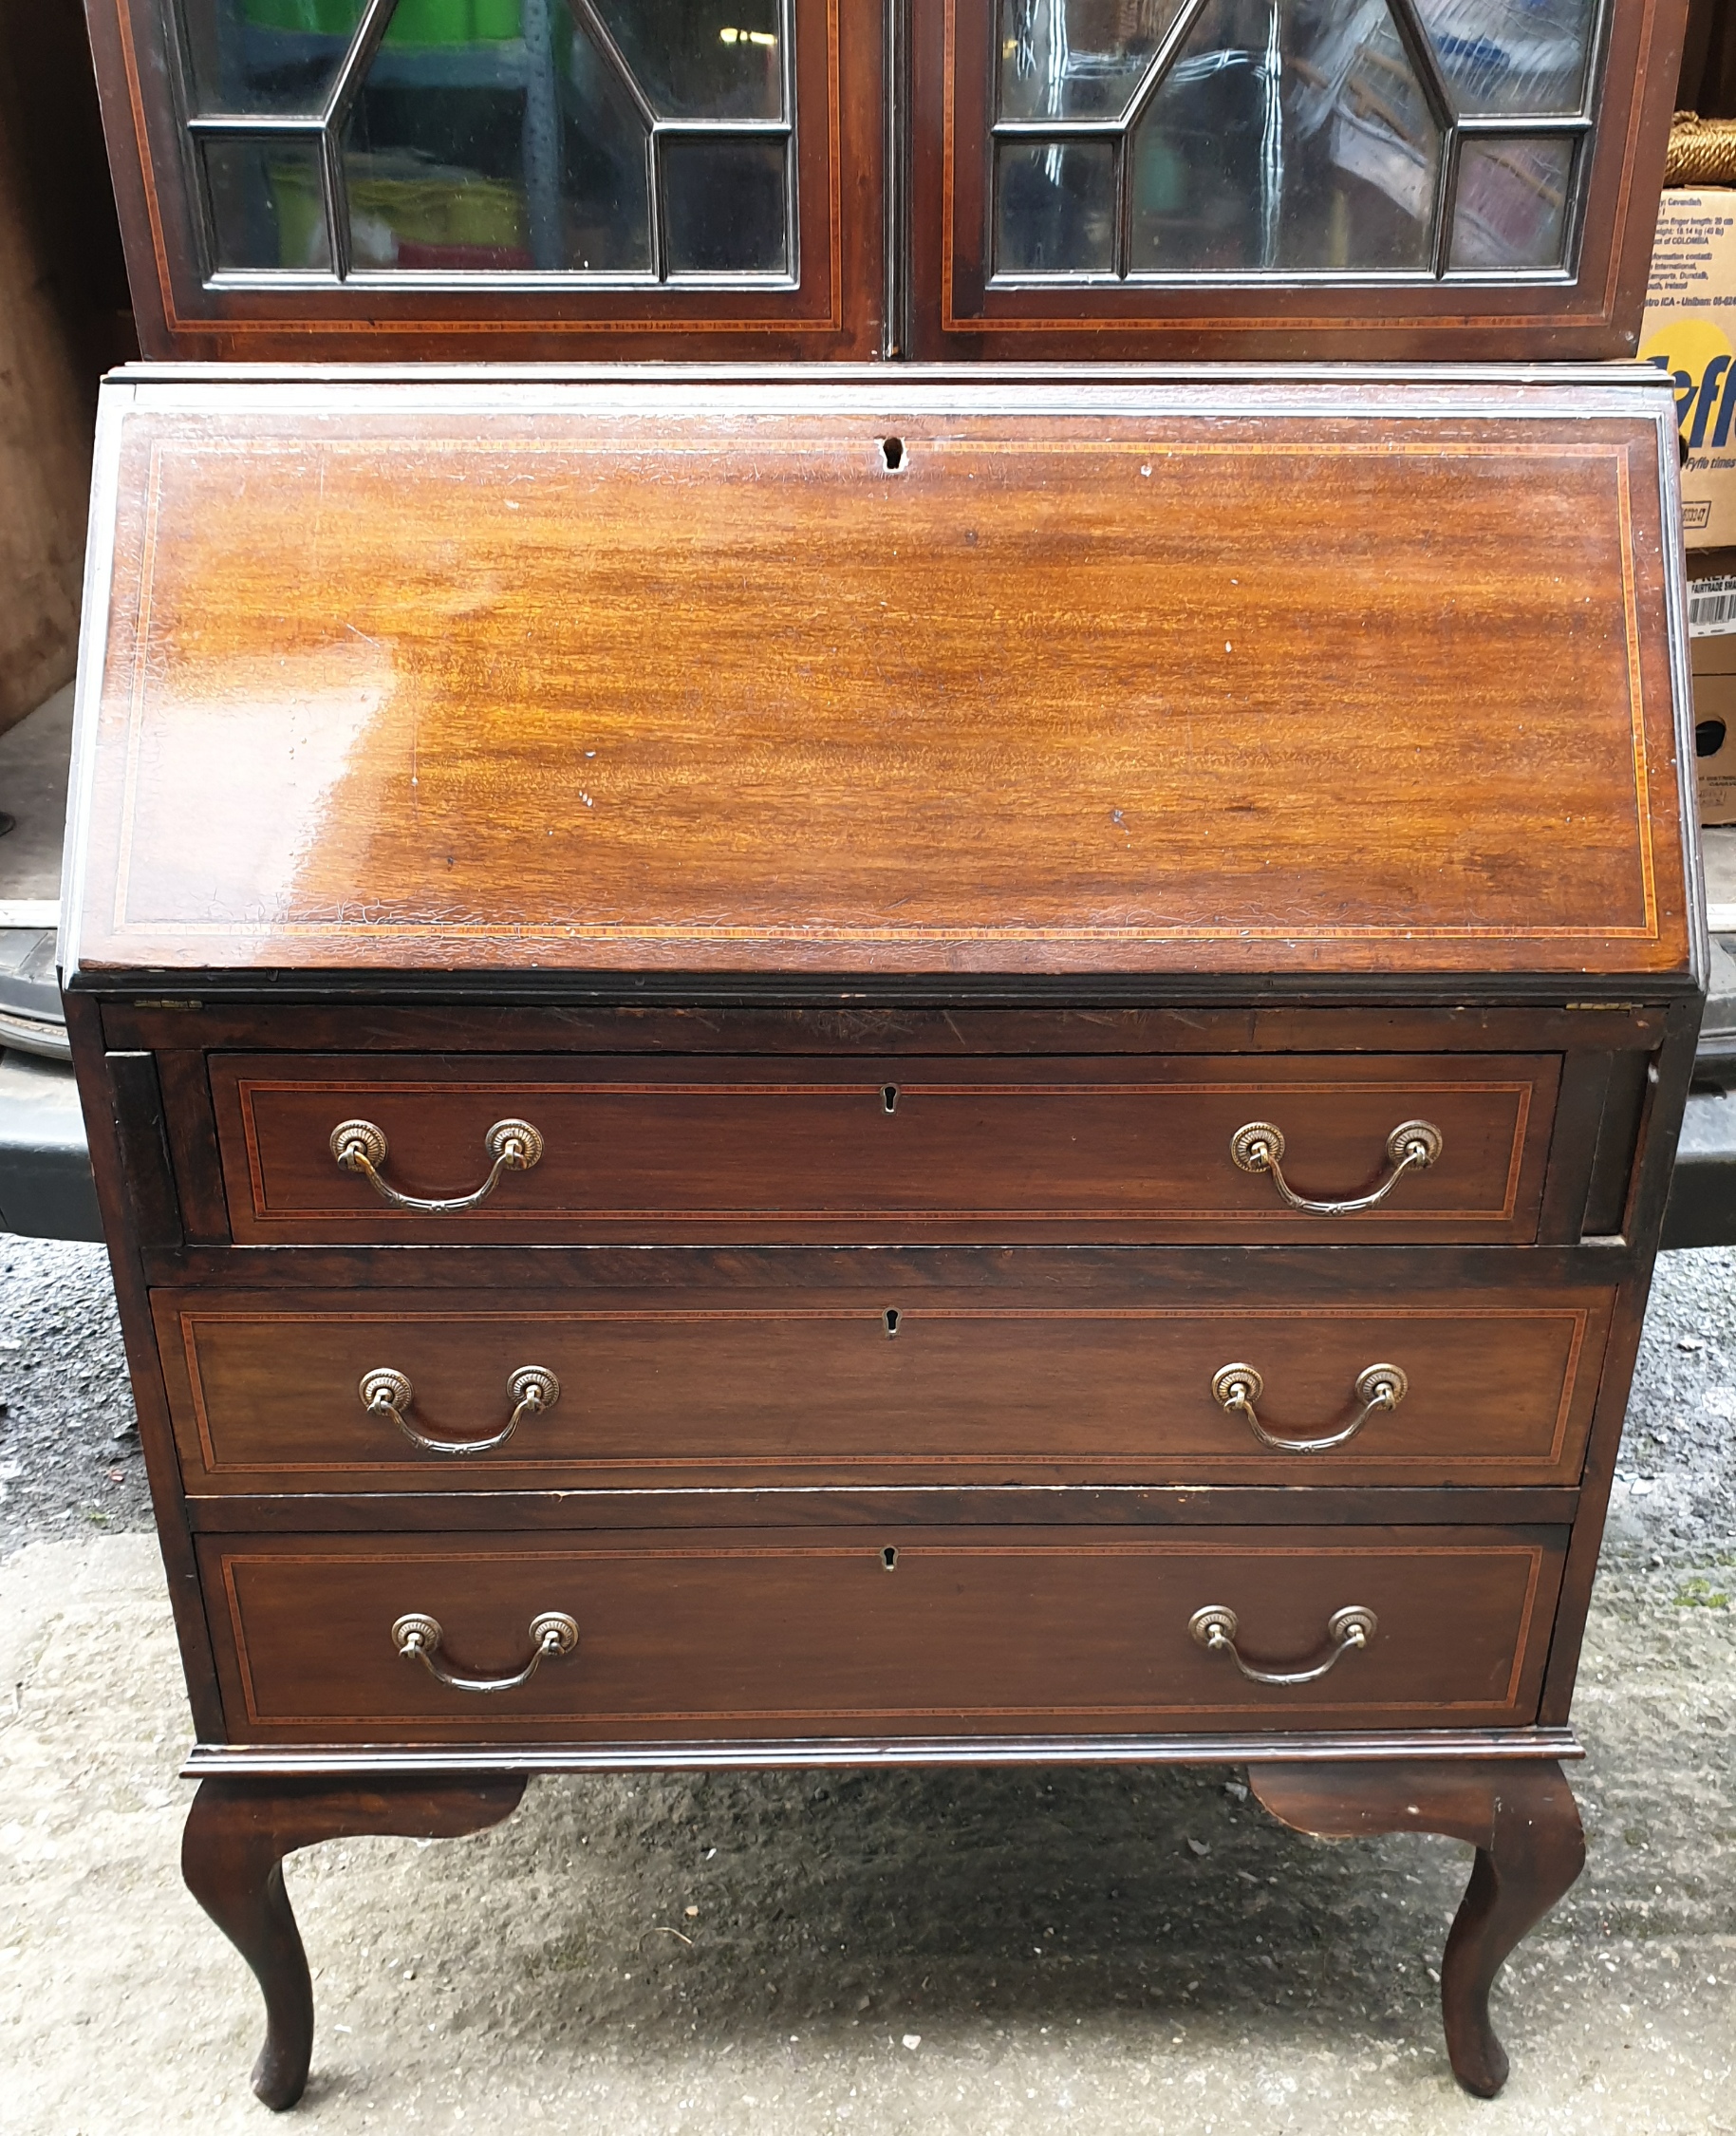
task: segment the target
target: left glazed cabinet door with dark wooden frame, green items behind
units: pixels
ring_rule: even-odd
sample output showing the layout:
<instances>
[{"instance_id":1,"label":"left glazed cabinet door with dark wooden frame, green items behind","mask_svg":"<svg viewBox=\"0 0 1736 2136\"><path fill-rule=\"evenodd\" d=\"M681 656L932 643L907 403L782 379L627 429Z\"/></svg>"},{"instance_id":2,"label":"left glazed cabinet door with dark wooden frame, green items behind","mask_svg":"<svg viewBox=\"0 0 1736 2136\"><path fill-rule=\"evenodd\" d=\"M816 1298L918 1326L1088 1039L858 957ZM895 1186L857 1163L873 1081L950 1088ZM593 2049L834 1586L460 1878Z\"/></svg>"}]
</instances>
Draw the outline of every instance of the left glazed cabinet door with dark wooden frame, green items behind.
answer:
<instances>
[{"instance_id":1,"label":"left glazed cabinet door with dark wooden frame, green items behind","mask_svg":"<svg viewBox=\"0 0 1736 2136\"><path fill-rule=\"evenodd\" d=\"M147 355L880 346L871 4L90 0L90 15Z\"/></svg>"}]
</instances>

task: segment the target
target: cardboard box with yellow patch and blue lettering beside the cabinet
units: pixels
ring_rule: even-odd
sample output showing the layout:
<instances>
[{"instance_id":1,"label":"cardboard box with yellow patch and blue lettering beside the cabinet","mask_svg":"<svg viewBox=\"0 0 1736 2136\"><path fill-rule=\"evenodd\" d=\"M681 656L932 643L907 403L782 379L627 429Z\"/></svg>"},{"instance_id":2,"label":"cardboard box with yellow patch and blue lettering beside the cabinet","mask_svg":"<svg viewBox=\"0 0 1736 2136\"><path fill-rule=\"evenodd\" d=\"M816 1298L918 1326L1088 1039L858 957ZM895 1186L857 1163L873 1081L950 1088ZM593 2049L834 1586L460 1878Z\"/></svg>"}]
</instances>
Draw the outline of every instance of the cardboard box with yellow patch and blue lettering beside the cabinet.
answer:
<instances>
[{"instance_id":1,"label":"cardboard box with yellow patch and blue lettering beside the cabinet","mask_svg":"<svg viewBox=\"0 0 1736 2136\"><path fill-rule=\"evenodd\" d=\"M1689 549L1736 545L1736 192L1666 192L1640 359L1672 374Z\"/></svg>"}]
</instances>

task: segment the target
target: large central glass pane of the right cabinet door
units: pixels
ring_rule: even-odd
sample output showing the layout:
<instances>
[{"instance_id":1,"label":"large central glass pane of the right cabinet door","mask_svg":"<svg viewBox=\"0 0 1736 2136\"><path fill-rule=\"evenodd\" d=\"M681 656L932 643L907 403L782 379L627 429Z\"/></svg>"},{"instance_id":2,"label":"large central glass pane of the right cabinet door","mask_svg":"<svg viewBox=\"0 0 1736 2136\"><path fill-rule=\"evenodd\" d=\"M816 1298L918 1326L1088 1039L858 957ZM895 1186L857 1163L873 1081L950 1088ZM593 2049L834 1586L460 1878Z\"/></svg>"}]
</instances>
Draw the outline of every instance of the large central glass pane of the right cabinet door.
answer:
<instances>
[{"instance_id":1,"label":"large central glass pane of the right cabinet door","mask_svg":"<svg viewBox=\"0 0 1736 2136\"><path fill-rule=\"evenodd\" d=\"M1211 0L1132 156L1132 273L1431 265L1441 139L1379 0Z\"/></svg>"}]
</instances>

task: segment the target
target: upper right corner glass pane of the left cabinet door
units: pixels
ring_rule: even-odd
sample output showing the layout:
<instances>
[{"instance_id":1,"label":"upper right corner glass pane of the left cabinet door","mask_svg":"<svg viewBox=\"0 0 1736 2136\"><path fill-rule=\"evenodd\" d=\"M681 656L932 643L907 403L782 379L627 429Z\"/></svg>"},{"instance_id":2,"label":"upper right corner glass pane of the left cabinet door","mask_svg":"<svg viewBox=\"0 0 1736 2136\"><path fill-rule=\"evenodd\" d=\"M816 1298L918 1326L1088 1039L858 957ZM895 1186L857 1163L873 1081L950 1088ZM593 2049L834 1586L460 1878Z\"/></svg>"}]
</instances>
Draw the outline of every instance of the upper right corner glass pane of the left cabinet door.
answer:
<instances>
[{"instance_id":1,"label":"upper right corner glass pane of the left cabinet door","mask_svg":"<svg viewBox=\"0 0 1736 2136\"><path fill-rule=\"evenodd\" d=\"M596 0L662 117L782 120L782 0Z\"/></svg>"}]
</instances>

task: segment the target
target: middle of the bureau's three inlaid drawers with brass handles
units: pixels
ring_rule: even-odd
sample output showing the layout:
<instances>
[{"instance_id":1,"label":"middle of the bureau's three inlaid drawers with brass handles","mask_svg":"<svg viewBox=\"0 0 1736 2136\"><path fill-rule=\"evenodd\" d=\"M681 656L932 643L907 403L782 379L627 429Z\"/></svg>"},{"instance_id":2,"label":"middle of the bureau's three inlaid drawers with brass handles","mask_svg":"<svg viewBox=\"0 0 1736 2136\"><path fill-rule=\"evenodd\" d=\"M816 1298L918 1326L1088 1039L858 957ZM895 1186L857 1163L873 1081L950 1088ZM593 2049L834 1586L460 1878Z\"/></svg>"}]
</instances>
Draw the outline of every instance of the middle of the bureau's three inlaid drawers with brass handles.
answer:
<instances>
[{"instance_id":1,"label":"middle of the bureau's three inlaid drawers with brass handles","mask_svg":"<svg viewBox=\"0 0 1736 2136\"><path fill-rule=\"evenodd\" d=\"M1063 1297L158 1292L154 1312L194 1493L1578 1480L1612 1292L1394 1299L1350 1260L1362 1279L1347 1267L1332 1305L1251 1269L1247 1305L1123 1277ZM1185 1271L1170 1288L1185 1299Z\"/></svg>"}]
</instances>

